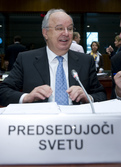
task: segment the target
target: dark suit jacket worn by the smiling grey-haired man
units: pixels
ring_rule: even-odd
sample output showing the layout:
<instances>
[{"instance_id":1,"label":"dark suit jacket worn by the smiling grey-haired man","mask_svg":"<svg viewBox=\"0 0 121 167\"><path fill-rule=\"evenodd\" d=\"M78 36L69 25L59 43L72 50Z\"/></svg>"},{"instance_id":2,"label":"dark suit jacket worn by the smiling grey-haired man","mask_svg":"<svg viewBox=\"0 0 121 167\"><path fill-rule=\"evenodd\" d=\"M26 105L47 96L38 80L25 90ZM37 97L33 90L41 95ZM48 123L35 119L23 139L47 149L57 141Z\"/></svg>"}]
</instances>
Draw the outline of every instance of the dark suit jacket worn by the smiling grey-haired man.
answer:
<instances>
[{"instance_id":1,"label":"dark suit jacket worn by the smiling grey-haired man","mask_svg":"<svg viewBox=\"0 0 121 167\"><path fill-rule=\"evenodd\" d=\"M69 86L78 85L71 75L72 69L78 72L82 84L95 101L106 100L104 88L96 75L92 56L69 50ZM6 106L10 103L18 103L23 93L29 93L35 87L44 84L50 85L46 48L21 52L9 77L0 85L0 104Z\"/></svg>"}]
</instances>

